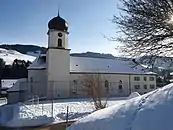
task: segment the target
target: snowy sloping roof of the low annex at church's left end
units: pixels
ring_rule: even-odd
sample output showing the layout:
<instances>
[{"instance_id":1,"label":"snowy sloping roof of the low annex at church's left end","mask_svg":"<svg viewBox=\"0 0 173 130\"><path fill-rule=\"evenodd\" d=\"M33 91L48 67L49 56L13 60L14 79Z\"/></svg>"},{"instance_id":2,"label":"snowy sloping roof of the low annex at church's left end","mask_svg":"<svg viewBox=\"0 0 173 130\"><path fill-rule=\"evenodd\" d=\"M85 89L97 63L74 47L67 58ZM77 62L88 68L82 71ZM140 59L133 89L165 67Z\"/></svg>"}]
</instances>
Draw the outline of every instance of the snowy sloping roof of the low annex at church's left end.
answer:
<instances>
[{"instance_id":1,"label":"snowy sloping roof of the low annex at church's left end","mask_svg":"<svg viewBox=\"0 0 173 130\"><path fill-rule=\"evenodd\" d=\"M8 90L7 90L7 92L16 92L16 91L22 91L22 90L26 90L27 88L27 86L26 86L26 78L22 78L22 79L18 79L15 83L14 83L14 85L11 87L11 88L9 88Z\"/></svg>"}]
</instances>

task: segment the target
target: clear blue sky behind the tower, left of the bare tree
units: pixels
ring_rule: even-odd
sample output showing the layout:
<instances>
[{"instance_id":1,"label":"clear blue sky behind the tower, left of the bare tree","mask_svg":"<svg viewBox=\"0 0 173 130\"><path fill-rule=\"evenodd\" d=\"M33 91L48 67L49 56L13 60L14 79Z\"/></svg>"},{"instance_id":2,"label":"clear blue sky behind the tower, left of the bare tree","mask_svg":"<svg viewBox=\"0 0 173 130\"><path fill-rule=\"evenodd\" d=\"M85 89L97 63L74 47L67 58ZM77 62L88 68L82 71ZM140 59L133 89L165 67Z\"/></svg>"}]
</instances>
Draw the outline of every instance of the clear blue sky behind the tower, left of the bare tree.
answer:
<instances>
[{"instance_id":1,"label":"clear blue sky behind the tower, left of the bare tree","mask_svg":"<svg viewBox=\"0 0 173 130\"><path fill-rule=\"evenodd\" d=\"M118 0L3 0L0 3L0 43L47 45L47 23L60 15L69 24L71 52L117 54L110 19L118 14Z\"/></svg>"}]
</instances>

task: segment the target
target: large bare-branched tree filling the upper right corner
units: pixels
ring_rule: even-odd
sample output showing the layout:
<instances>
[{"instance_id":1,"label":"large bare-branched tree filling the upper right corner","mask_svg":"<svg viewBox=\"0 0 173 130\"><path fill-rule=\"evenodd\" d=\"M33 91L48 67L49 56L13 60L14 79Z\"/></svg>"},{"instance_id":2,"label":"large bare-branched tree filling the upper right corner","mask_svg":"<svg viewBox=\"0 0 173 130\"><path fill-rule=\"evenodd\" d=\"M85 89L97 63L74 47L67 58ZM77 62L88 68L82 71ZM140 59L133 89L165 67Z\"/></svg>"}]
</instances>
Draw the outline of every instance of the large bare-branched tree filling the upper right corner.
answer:
<instances>
[{"instance_id":1,"label":"large bare-branched tree filling the upper right corner","mask_svg":"<svg viewBox=\"0 0 173 130\"><path fill-rule=\"evenodd\" d=\"M149 58L173 54L173 0L120 0L120 15L112 19L119 28L125 56ZM145 59L143 58L143 60Z\"/></svg>"}]
</instances>

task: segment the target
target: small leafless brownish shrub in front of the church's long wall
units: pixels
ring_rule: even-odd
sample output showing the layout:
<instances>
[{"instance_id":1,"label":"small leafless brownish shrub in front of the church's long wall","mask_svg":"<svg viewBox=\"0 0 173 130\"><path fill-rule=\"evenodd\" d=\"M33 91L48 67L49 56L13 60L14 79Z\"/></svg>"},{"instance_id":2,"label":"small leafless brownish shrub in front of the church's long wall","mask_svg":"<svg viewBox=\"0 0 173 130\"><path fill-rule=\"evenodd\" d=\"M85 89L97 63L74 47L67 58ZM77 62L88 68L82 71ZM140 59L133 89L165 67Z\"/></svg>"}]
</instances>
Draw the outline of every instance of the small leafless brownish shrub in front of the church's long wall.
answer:
<instances>
[{"instance_id":1,"label":"small leafless brownish shrub in front of the church's long wall","mask_svg":"<svg viewBox=\"0 0 173 130\"><path fill-rule=\"evenodd\" d=\"M109 85L100 74L86 74L81 80L88 97L93 99L96 110L103 109L107 105Z\"/></svg>"}]
</instances>

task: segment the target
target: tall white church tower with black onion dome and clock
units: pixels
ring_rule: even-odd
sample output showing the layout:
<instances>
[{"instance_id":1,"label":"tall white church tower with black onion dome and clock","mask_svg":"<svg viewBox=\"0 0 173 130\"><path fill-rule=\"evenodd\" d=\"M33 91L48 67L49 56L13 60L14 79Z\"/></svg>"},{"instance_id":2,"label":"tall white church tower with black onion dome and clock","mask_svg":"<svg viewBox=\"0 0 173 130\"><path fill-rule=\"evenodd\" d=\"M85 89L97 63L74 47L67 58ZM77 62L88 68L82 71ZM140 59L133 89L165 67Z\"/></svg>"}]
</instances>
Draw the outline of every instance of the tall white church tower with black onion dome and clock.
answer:
<instances>
[{"instance_id":1,"label":"tall white church tower with black onion dome and clock","mask_svg":"<svg viewBox=\"0 0 173 130\"><path fill-rule=\"evenodd\" d=\"M48 49L46 54L48 93L54 98L69 94L70 49L68 49L68 24L60 17L48 23Z\"/></svg>"}]
</instances>

